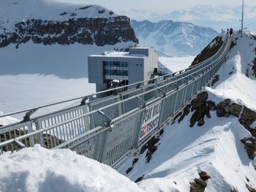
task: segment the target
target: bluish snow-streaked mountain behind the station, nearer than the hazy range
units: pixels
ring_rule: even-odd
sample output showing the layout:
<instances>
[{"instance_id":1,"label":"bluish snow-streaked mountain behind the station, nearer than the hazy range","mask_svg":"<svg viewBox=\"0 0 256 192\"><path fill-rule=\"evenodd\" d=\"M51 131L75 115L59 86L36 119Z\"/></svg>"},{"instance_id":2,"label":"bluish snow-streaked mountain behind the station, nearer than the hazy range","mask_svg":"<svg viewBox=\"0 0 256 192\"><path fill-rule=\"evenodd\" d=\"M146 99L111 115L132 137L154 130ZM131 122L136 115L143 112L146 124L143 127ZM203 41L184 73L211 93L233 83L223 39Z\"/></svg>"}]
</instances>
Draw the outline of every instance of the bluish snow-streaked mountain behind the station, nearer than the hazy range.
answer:
<instances>
[{"instance_id":1,"label":"bluish snow-streaked mountain behind the station, nearer than the hazy range","mask_svg":"<svg viewBox=\"0 0 256 192\"><path fill-rule=\"evenodd\" d=\"M217 36L217 31L211 28L172 20L158 23L132 20L131 25L140 39L140 45L153 46L160 55L197 55Z\"/></svg>"}]
</instances>

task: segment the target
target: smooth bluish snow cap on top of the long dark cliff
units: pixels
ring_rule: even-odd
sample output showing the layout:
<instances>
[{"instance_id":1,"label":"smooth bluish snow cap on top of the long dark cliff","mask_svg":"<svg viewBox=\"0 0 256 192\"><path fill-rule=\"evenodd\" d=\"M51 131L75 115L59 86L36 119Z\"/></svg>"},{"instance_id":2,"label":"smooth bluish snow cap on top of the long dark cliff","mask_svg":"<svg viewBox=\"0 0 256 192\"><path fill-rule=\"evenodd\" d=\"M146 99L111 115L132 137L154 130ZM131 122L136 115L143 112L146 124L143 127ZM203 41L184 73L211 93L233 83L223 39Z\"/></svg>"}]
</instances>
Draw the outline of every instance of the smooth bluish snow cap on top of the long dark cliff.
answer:
<instances>
[{"instance_id":1,"label":"smooth bluish snow cap on top of the long dark cliff","mask_svg":"<svg viewBox=\"0 0 256 192\"><path fill-rule=\"evenodd\" d=\"M72 18L111 18L110 10L98 5L64 3L57 0L1 0L0 30L28 18L64 21ZM1 31L0 31L1 32Z\"/></svg>"}]
</instances>

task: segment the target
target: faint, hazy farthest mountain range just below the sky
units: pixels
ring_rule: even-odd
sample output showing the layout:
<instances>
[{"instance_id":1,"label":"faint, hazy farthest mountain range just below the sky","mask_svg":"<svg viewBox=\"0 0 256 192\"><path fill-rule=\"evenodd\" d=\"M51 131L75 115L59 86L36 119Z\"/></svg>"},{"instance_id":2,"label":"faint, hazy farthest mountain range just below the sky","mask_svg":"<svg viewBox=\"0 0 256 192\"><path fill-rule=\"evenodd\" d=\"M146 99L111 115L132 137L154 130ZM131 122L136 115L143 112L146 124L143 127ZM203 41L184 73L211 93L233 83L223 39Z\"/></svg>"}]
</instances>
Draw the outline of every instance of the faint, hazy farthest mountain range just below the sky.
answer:
<instances>
[{"instance_id":1,"label":"faint, hazy farthest mountain range just below the sky","mask_svg":"<svg viewBox=\"0 0 256 192\"><path fill-rule=\"evenodd\" d=\"M134 20L150 20L159 22L159 20L176 20L189 22L198 26L207 26L217 31L233 27L241 28L241 6L217 6L199 5L190 9L181 9L165 14L159 12L149 12L144 9L132 9L121 14L127 15ZM256 33L256 6L244 7L244 28Z\"/></svg>"}]
</instances>

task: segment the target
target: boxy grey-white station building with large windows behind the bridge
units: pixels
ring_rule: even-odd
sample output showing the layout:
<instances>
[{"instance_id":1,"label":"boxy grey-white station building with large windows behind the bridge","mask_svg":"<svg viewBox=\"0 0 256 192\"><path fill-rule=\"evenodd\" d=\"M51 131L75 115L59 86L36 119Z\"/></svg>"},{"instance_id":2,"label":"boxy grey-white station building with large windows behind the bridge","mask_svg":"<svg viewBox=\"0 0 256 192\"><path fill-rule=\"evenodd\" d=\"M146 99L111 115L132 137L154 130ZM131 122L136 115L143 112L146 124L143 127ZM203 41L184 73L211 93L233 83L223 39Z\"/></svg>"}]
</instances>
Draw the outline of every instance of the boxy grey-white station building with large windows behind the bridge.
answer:
<instances>
[{"instance_id":1,"label":"boxy grey-white station building with large windows behind the bridge","mask_svg":"<svg viewBox=\"0 0 256 192\"><path fill-rule=\"evenodd\" d=\"M96 91L150 80L158 68L153 47L131 47L129 52L104 52L88 57L89 82Z\"/></svg>"}]
</instances>

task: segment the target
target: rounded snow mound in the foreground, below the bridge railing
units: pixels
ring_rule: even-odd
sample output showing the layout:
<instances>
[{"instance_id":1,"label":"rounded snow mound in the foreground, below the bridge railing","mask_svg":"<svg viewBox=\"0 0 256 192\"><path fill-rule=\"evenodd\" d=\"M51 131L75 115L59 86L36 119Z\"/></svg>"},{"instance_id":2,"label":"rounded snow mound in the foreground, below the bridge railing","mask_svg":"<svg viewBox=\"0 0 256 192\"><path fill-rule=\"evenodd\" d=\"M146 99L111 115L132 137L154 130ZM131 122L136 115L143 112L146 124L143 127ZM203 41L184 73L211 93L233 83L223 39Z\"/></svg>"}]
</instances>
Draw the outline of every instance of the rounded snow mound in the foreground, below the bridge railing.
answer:
<instances>
[{"instance_id":1,"label":"rounded snow mound in the foreground, below the bridge railing","mask_svg":"<svg viewBox=\"0 0 256 192\"><path fill-rule=\"evenodd\" d=\"M0 191L142 191L114 169L70 150L36 145L0 155Z\"/></svg>"}]
</instances>

